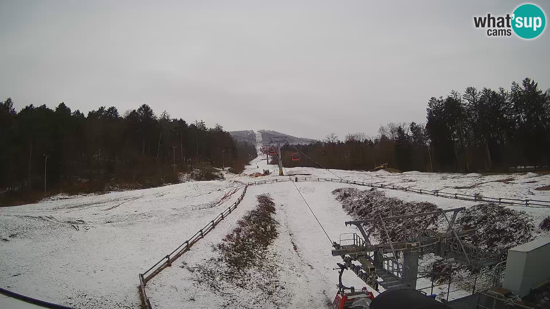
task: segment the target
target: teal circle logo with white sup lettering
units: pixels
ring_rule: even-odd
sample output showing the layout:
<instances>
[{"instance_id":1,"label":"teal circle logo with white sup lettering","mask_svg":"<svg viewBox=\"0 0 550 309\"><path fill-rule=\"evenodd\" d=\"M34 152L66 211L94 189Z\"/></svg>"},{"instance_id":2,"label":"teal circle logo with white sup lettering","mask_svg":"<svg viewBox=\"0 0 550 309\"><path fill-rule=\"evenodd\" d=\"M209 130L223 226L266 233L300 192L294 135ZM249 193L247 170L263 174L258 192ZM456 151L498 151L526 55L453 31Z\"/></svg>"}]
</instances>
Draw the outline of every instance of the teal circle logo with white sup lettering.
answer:
<instances>
[{"instance_id":1,"label":"teal circle logo with white sup lettering","mask_svg":"<svg viewBox=\"0 0 550 309\"><path fill-rule=\"evenodd\" d=\"M512 29L522 38L535 38L546 25L544 12L535 4L522 4L514 10Z\"/></svg>"}]
</instances>

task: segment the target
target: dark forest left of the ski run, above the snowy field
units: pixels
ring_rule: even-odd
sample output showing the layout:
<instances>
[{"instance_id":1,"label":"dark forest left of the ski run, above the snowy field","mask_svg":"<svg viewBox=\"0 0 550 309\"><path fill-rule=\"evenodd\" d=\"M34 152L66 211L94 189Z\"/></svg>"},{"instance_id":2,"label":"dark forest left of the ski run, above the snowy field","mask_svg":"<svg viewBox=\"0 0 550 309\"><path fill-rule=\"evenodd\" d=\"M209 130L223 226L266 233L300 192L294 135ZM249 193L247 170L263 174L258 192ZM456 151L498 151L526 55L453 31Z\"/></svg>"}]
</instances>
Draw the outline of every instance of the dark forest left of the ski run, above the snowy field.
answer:
<instances>
[{"instance_id":1,"label":"dark forest left of the ski run, above the snowy field","mask_svg":"<svg viewBox=\"0 0 550 309\"><path fill-rule=\"evenodd\" d=\"M255 146L235 141L219 124L158 117L143 104L120 115L114 106L85 115L65 103L55 109L0 102L2 194L36 191L101 191L106 185L151 187L177 183L191 168L232 167L235 172Z\"/></svg>"}]
</instances>

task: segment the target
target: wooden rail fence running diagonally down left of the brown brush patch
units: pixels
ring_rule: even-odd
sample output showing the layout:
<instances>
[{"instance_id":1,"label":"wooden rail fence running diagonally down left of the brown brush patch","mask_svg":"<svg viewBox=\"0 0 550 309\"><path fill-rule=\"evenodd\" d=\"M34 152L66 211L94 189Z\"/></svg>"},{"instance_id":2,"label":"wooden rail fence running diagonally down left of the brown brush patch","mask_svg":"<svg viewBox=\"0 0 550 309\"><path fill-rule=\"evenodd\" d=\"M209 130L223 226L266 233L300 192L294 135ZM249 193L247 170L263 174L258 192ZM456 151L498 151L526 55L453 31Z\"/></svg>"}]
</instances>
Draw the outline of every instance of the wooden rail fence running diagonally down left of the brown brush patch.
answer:
<instances>
[{"instance_id":1,"label":"wooden rail fence running diagonally down left of the brown brush patch","mask_svg":"<svg viewBox=\"0 0 550 309\"><path fill-rule=\"evenodd\" d=\"M211 222L208 222L208 224L206 224L204 228L197 231L195 235L191 236L190 239L179 245L174 251L162 257L155 265L147 269L147 271L139 274L139 291L141 295L141 300L145 308L152 309L151 302L149 301L149 298L147 298L147 293L145 291L145 286L147 282L155 277L155 275L160 273L162 269L172 266L172 262L174 262L178 257L182 256L183 253L189 251L191 246L193 246L200 239L204 238L204 236L208 234L209 231L214 229L216 225L221 222L221 220L225 219L232 211L234 211L234 209L237 208L239 203L243 200L248 186L249 184L245 184L243 193L237 198L237 201L235 201L231 206L224 209L224 211L218 214L218 216L216 216L216 218L214 218Z\"/></svg>"}]
</instances>

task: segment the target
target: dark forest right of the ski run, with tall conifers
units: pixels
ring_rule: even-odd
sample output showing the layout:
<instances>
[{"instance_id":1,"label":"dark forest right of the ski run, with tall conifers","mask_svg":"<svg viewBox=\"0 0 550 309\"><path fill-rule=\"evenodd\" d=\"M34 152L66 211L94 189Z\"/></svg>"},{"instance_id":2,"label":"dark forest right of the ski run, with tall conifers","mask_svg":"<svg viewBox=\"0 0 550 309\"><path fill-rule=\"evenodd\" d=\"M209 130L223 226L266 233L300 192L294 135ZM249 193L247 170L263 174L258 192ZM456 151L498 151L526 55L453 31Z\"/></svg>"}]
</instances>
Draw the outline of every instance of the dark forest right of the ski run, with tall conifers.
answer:
<instances>
[{"instance_id":1,"label":"dark forest right of the ski run, with tall conifers","mask_svg":"<svg viewBox=\"0 0 550 309\"><path fill-rule=\"evenodd\" d=\"M295 148L300 161L290 158ZM550 90L525 78L510 90L467 87L432 97L426 123L381 125L376 136L329 134L309 145L285 145L287 167L369 170L388 163L402 171L504 172L510 167L547 167L550 161Z\"/></svg>"}]
</instances>

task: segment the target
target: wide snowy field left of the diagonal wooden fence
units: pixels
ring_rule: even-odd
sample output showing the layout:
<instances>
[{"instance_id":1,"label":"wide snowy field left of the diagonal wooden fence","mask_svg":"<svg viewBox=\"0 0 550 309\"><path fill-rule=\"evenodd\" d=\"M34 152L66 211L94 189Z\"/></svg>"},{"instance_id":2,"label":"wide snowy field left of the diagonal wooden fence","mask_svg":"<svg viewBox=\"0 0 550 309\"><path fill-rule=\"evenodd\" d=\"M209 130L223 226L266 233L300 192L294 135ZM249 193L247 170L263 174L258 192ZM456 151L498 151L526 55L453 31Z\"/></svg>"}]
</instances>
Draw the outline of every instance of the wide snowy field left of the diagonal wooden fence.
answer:
<instances>
[{"instance_id":1,"label":"wide snowy field left of the diagonal wooden fence","mask_svg":"<svg viewBox=\"0 0 550 309\"><path fill-rule=\"evenodd\" d=\"M3 208L0 286L77 308L137 308L138 273L202 228L234 181Z\"/></svg>"}]
</instances>

